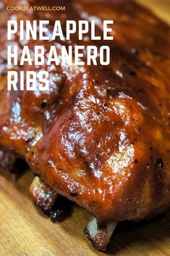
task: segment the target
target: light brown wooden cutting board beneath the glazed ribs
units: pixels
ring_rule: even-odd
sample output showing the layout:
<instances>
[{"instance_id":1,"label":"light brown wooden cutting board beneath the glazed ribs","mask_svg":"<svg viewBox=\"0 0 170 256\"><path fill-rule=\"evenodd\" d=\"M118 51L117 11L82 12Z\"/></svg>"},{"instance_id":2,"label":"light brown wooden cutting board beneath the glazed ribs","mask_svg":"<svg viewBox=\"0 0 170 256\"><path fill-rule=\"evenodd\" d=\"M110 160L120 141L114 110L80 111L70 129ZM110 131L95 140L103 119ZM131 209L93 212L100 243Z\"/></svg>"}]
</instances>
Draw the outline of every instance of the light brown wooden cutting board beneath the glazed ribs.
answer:
<instances>
[{"instance_id":1,"label":"light brown wooden cutting board beneath the glazed ribs","mask_svg":"<svg viewBox=\"0 0 170 256\"><path fill-rule=\"evenodd\" d=\"M170 24L169 0L138 1ZM170 211L152 221L119 224L104 254L83 234L90 213L74 207L67 220L51 223L30 199L31 181L30 171L12 183L9 172L0 170L0 256L170 255Z\"/></svg>"}]
</instances>

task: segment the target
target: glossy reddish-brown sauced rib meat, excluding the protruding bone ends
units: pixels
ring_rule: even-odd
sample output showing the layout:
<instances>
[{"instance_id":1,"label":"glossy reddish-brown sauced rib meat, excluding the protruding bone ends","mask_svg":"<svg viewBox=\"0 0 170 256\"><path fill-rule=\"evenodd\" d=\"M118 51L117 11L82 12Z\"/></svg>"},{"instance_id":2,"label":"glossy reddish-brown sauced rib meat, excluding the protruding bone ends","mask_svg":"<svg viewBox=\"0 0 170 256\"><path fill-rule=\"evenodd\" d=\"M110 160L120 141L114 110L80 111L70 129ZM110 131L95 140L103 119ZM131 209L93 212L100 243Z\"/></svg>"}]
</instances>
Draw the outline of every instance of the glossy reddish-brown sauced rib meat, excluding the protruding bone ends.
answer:
<instances>
[{"instance_id":1,"label":"glossy reddish-brown sauced rib meat, excluding the protruding bone ends","mask_svg":"<svg viewBox=\"0 0 170 256\"><path fill-rule=\"evenodd\" d=\"M0 145L24 158L58 194L100 222L140 220L170 205L170 30L127 1L57 1L65 12L7 12L1 1ZM53 6L56 1L26 1ZM114 20L111 65L7 66L7 44L22 49L50 41L7 41L7 20ZM53 43L54 44L54 43ZM57 41L61 45L103 41ZM48 70L49 91L7 91L7 70ZM3 154L1 154L3 155ZM1 159L1 158L0 158Z\"/></svg>"}]
</instances>

